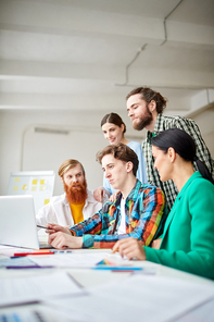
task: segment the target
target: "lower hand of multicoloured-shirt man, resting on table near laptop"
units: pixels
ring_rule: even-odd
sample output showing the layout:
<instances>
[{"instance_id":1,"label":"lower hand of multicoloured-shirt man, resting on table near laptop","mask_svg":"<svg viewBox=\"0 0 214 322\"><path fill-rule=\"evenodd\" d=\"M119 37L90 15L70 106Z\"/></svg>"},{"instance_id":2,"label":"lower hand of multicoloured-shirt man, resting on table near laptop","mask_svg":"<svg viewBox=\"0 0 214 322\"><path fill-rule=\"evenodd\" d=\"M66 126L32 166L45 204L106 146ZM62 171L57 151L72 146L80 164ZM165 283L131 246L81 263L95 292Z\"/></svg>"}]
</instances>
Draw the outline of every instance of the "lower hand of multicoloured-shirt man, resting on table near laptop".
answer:
<instances>
[{"instance_id":1,"label":"lower hand of multicoloured-shirt man, resting on table near laptop","mask_svg":"<svg viewBox=\"0 0 214 322\"><path fill-rule=\"evenodd\" d=\"M67 233L56 232L49 235L48 244L58 249L81 248L83 237L74 237Z\"/></svg>"}]
</instances>

